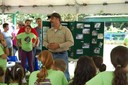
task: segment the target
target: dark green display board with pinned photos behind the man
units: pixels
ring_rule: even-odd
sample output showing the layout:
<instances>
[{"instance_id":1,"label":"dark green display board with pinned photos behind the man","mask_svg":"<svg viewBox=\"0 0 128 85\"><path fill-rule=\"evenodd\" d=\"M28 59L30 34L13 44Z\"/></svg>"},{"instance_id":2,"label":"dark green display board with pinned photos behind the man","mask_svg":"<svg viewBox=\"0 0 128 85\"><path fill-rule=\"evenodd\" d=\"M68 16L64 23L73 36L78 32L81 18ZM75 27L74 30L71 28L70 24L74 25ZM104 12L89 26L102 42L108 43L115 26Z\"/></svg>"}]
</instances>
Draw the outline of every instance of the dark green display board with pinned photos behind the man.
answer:
<instances>
[{"instance_id":1,"label":"dark green display board with pinned photos behind the man","mask_svg":"<svg viewBox=\"0 0 128 85\"><path fill-rule=\"evenodd\" d=\"M77 59L84 55L103 56L103 22L61 22L61 24L71 30L75 42L68 51L69 57ZM45 29L50 27L49 22L43 22L43 37L46 34Z\"/></svg>"}]
</instances>

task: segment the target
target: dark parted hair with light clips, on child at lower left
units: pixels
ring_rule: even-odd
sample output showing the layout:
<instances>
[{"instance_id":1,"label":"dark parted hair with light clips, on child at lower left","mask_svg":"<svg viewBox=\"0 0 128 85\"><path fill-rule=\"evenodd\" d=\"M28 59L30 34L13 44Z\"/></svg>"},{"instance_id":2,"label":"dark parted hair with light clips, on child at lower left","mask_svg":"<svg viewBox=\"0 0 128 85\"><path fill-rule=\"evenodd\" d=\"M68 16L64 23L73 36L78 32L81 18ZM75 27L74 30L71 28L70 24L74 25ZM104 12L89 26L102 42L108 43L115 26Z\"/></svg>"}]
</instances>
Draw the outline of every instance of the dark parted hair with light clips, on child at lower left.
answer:
<instances>
[{"instance_id":1,"label":"dark parted hair with light clips, on child at lower left","mask_svg":"<svg viewBox=\"0 0 128 85\"><path fill-rule=\"evenodd\" d=\"M5 83L9 85L12 81L17 81L19 85L22 85L22 79L24 77L24 70L21 65L16 64L13 67L7 68L5 73Z\"/></svg>"}]
</instances>

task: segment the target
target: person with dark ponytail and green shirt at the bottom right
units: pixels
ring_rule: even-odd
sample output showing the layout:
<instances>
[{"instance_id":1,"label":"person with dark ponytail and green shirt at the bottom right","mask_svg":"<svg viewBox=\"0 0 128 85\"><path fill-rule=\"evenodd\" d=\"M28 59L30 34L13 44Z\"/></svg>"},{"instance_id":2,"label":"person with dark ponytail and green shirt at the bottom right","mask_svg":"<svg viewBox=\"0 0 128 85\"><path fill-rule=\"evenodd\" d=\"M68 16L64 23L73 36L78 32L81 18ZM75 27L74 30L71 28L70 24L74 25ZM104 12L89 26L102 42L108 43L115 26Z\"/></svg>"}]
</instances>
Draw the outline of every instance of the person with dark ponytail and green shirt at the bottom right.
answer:
<instances>
[{"instance_id":1,"label":"person with dark ponytail and green shirt at the bottom right","mask_svg":"<svg viewBox=\"0 0 128 85\"><path fill-rule=\"evenodd\" d=\"M104 71L97 74L85 85L128 85L128 48L117 46L110 53L114 71Z\"/></svg>"}]
</instances>

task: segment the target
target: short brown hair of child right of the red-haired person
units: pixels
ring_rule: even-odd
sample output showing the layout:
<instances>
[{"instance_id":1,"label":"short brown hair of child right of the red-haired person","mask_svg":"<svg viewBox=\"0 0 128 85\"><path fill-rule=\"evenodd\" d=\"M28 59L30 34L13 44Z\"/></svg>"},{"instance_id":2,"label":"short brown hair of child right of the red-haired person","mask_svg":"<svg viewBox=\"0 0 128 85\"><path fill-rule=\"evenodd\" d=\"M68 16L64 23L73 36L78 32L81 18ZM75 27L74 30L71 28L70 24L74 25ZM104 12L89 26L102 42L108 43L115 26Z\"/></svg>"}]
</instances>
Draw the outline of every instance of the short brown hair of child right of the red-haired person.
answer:
<instances>
[{"instance_id":1,"label":"short brown hair of child right of the red-haired person","mask_svg":"<svg viewBox=\"0 0 128 85\"><path fill-rule=\"evenodd\" d=\"M59 68L63 72L65 72L67 68L67 65L63 59L55 59L53 65L56 70Z\"/></svg>"}]
</instances>

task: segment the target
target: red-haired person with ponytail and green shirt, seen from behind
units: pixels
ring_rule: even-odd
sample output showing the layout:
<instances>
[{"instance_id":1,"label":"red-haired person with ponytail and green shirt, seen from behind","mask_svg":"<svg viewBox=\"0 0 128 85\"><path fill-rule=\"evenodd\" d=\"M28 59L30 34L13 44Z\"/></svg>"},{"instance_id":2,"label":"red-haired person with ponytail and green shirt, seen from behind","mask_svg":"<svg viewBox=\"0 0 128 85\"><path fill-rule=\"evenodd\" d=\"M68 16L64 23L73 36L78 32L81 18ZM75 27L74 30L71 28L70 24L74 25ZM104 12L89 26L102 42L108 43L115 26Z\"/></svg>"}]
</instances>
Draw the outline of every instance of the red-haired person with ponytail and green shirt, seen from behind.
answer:
<instances>
[{"instance_id":1,"label":"red-haired person with ponytail and green shirt, seen from behind","mask_svg":"<svg viewBox=\"0 0 128 85\"><path fill-rule=\"evenodd\" d=\"M51 69L53 65L52 53L48 50L42 51L38 60L42 62L40 71L34 71L29 77L29 85L68 85L68 81L62 71Z\"/></svg>"}]
</instances>

